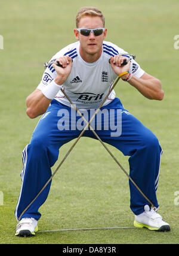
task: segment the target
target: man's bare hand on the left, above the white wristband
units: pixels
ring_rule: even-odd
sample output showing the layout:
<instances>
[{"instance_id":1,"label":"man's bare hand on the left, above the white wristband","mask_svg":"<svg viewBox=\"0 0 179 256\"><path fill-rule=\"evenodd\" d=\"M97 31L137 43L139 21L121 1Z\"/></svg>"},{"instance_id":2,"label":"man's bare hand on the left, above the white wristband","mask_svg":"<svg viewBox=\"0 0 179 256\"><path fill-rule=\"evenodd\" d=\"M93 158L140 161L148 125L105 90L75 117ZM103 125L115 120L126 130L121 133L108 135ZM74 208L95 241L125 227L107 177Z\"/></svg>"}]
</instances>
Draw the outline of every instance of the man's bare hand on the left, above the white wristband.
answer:
<instances>
[{"instance_id":1,"label":"man's bare hand on the left, above the white wristband","mask_svg":"<svg viewBox=\"0 0 179 256\"><path fill-rule=\"evenodd\" d=\"M62 67L53 64L53 68L57 71L57 76L55 77L54 82L57 83L57 85L63 85L72 70L72 58L69 56L62 56L56 59L56 62L59 62Z\"/></svg>"}]
</instances>

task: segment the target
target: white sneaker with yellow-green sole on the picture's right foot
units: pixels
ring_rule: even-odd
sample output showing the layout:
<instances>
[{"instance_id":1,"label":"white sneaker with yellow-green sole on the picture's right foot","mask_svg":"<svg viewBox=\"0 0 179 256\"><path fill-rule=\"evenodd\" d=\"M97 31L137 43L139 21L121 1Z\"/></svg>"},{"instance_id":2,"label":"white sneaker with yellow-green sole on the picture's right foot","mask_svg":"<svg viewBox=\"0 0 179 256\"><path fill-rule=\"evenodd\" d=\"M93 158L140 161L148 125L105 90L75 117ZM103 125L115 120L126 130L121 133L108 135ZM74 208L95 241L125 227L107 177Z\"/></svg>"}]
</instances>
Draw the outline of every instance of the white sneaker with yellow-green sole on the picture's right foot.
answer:
<instances>
[{"instance_id":1,"label":"white sneaker with yellow-green sole on the picture's right foot","mask_svg":"<svg viewBox=\"0 0 179 256\"><path fill-rule=\"evenodd\" d=\"M155 231L169 231L169 224L163 221L162 216L157 213L156 207L150 209L148 205L144 206L144 212L135 215L134 227L148 228Z\"/></svg>"}]
</instances>

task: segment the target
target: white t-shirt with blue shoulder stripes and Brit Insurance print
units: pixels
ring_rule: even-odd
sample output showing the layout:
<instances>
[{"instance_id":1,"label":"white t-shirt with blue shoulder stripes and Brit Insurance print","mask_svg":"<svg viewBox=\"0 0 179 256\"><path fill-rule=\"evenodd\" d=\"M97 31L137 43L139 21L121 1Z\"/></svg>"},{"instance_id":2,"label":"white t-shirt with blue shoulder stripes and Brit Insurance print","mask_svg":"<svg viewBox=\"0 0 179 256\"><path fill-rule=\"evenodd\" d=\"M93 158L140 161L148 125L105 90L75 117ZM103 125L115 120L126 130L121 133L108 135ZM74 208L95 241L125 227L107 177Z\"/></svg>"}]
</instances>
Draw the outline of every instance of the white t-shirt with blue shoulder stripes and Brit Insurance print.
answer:
<instances>
[{"instance_id":1,"label":"white t-shirt with blue shoulder stripes and Brit Insurance print","mask_svg":"<svg viewBox=\"0 0 179 256\"><path fill-rule=\"evenodd\" d=\"M55 60L65 55L73 59L72 71L62 88L73 104L76 104L78 109L97 109L97 107L100 106L109 92L112 83L115 81L116 77L118 77L109 64L110 57L118 54L124 54L124 56L128 58L130 56L115 44L103 41L103 52L100 58L94 63L87 63L79 54L79 41L77 41L64 47L51 58L51 60ZM133 59L129 72L135 77L141 77L144 74L140 65ZM56 76L57 72L52 65L49 65L37 89L42 90L55 79ZM115 95L115 91L113 90L103 106L114 100ZM54 99L70 107L70 103L67 98L64 97L63 92L59 91Z\"/></svg>"}]
</instances>

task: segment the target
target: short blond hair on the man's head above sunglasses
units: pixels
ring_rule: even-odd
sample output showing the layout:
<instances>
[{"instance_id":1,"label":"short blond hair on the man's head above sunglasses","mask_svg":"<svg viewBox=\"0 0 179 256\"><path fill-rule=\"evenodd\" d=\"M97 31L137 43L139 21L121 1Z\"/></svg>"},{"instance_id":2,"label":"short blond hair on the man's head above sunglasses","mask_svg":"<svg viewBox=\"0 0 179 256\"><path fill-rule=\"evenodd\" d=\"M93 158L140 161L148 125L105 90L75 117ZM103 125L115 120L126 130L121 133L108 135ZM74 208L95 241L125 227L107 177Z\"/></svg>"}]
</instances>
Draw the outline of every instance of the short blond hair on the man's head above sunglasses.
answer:
<instances>
[{"instance_id":1,"label":"short blond hair on the man's head above sunglasses","mask_svg":"<svg viewBox=\"0 0 179 256\"><path fill-rule=\"evenodd\" d=\"M95 7L82 7L76 15L76 28L78 28L79 21L81 20L82 16L98 16L101 18L103 26L105 24L105 17L100 10Z\"/></svg>"}]
</instances>

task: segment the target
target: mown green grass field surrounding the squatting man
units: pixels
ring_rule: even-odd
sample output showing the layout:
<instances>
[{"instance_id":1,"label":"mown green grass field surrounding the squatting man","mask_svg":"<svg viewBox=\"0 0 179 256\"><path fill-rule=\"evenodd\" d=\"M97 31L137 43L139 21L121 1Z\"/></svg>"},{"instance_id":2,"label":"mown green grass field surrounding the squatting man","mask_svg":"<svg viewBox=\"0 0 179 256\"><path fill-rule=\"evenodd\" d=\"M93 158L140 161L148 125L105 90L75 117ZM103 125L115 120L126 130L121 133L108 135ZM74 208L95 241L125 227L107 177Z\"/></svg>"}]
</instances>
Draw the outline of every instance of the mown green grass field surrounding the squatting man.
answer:
<instances>
[{"instance_id":1,"label":"mown green grass field surrounding the squatting man","mask_svg":"<svg viewBox=\"0 0 179 256\"><path fill-rule=\"evenodd\" d=\"M38 119L26 116L25 99L41 80L44 62L75 41L75 16L82 6L100 8L106 16L107 41L129 53L149 74L161 80L163 101L150 101L119 82L116 94L144 125L157 135L163 148L158 188L159 213L171 225L168 233L133 228L128 178L101 144L81 138L55 175L49 197L41 207L39 230L129 227L128 229L39 232L35 237L14 236L14 209L21 188L21 151ZM0 243L178 243L179 191L178 56L174 35L179 34L178 0L67 2L64 0L9 0L0 8L1 126L0 126ZM53 170L69 150L61 147ZM109 146L126 170L128 158Z\"/></svg>"}]
</instances>

